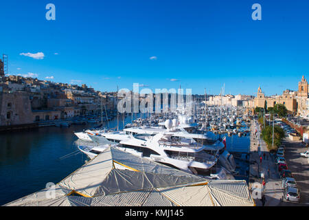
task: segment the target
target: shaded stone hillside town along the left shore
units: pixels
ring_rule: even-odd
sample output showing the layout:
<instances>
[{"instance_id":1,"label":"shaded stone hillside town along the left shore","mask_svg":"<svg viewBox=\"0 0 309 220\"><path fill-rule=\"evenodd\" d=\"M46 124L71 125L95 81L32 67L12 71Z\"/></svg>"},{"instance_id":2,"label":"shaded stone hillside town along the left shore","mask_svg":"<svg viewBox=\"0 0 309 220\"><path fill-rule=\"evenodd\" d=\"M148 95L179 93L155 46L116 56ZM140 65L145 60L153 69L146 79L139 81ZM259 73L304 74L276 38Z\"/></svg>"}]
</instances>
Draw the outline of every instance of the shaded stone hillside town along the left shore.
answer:
<instances>
[{"instance_id":1,"label":"shaded stone hillside town along the left shore","mask_svg":"<svg viewBox=\"0 0 309 220\"><path fill-rule=\"evenodd\" d=\"M115 111L117 93L23 76L5 76L0 59L0 126Z\"/></svg>"}]
</instances>

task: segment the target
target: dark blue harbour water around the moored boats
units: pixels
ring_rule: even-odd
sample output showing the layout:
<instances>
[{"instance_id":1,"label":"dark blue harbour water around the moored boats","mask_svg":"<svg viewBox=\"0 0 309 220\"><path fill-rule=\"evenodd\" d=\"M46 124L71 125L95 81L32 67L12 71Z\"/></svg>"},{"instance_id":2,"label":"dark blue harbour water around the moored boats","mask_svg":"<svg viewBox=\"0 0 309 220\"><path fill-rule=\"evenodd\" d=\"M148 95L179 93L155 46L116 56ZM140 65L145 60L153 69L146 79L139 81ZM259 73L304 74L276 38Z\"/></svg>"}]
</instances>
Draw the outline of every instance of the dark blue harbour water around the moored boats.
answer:
<instances>
[{"instance_id":1,"label":"dark blue harbour water around the moored boats","mask_svg":"<svg viewBox=\"0 0 309 220\"><path fill-rule=\"evenodd\" d=\"M126 123L131 122L129 115ZM71 125L69 127L42 127L39 129L12 131L0 134L0 206L25 195L41 190L50 182L57 184L77 168L87 158L78 152L73 142L78 140L74 132L94 126ZM104 122L107 126L107 122ZM117 120L109 122L111 128ZM122 129L123 121L119 122ZM227 150L243 157L249 151L250 138L233 135L227 137ZM64 157L69 155L69 157ZM236 158L236 163L246 170L247 164ZM240 173L236 179L247 179Z\"/></svg>"}]
</instances>

